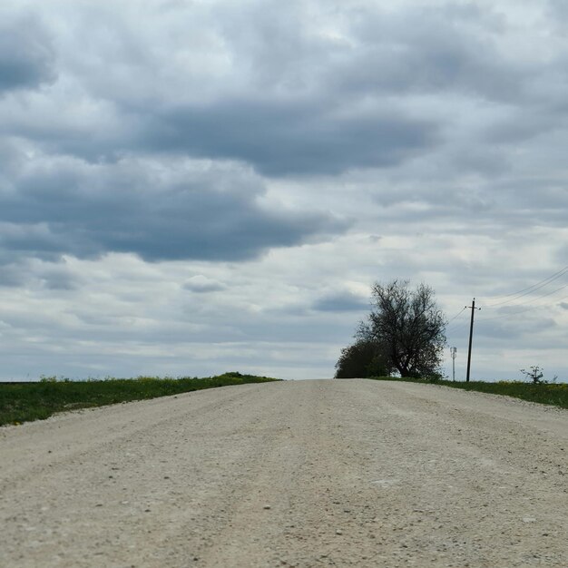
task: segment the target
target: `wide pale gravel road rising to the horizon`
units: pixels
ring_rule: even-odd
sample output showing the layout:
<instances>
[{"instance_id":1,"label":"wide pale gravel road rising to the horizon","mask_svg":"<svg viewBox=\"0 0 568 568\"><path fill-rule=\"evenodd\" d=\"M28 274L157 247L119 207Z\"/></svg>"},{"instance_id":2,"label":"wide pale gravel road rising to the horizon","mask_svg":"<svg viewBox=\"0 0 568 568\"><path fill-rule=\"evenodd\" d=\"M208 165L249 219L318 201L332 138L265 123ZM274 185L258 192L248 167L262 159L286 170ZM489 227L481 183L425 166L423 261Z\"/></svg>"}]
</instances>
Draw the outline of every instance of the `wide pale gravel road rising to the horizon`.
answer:
<instances>
[{"instance_id":1,"label":"wide pale gravel road rising to the horizon","mask_svg":"<svg viewBox=\"0 0 568 568\"><path fill-rule=\"evenodd\" d=\"M0 565L568 566L568 412L225 387L0 428Z\"/></svg>"}]
</instances>

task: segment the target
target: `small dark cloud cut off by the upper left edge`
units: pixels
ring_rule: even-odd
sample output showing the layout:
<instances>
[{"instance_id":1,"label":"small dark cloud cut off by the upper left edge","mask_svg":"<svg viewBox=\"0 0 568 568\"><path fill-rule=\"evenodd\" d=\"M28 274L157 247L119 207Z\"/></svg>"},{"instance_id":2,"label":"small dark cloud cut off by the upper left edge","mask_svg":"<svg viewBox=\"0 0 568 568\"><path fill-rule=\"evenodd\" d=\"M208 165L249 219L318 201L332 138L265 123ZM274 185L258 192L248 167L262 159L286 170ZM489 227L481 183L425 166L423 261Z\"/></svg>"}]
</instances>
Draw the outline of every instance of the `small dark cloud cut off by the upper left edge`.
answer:
<instances>
[{"instance_id":1,"label":"small dark cloud cut off by the upper left edge","mask_svg":"<svg viewBox=\"0 0 568 568\"><path fill-rule=\"evenodd\" d=\"M34 17L0 22L0 93L54 81L51 38Z\"/></svg>"}]
</instances>

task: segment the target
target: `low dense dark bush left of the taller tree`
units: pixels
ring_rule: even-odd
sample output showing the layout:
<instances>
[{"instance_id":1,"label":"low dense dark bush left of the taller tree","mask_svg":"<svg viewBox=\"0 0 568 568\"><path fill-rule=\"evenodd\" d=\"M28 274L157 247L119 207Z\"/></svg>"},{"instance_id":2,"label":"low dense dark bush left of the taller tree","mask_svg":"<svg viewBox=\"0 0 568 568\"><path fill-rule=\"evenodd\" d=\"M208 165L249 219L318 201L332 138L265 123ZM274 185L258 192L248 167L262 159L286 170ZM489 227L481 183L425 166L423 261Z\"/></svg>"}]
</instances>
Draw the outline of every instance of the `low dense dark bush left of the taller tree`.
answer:
<instances>
[{"instance_id":1,"label":"low dense dark bush left of the taller tree","mask_svg":"<svg viewBox=\"0 0 568 568\"><path fill-rule=\"evenodd\" d=\"M336 378L385 377L392 370L376 342L359 339L341 349L336 363Z\"/></svg>"}]
</instances>

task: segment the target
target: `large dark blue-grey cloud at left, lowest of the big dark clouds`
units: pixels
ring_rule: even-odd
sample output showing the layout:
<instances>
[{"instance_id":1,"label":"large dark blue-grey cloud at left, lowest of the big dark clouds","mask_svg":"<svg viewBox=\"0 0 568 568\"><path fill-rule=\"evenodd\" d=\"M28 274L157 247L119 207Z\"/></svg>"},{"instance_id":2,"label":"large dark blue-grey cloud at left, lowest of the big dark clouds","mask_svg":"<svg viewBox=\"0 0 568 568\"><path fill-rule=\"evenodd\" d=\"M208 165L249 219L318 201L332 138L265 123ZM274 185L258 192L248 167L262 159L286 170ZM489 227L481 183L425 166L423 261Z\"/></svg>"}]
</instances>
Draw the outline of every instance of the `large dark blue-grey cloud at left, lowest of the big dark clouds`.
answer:
<instances>
[{"instance_id":1,"label":"large dark blue-grey cloud at left, lowest of the big dark clouds","mask_svg":"<svg viewBox=\"0 0 568 568\"><path fill-rule=\"evenodd\" d=\"M247 260L345 230L324 214L269 211L245 171L47 162L0 191L0 244L56 260L132 252L144 260Z\"/></svg>"}]
</instances>

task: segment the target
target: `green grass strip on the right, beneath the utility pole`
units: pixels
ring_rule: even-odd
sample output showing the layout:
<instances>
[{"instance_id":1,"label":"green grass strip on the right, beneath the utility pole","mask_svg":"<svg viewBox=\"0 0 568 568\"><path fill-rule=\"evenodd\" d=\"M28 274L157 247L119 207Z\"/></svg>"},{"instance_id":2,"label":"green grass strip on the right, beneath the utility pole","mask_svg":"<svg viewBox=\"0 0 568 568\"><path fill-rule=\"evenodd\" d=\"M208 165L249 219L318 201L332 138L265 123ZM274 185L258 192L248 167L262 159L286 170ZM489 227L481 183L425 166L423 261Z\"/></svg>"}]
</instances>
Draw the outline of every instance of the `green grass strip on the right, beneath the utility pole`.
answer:
<instances>
[{"instance_id":1,"label":"green grass strip on the right, beneath the utility pole","mask_svg":"<svg viewBox=\"0 0 568 568\"><path fill-rule=\"evenodd\" d=\"M492 395L506 395L507 397L522 398L531 402L543 405L560 406L568 408L568 384L549 383L534 385L522 381L499 381L497 383L487 383L485 381L461 381L448 380L424 380L419 378L398 378L398 377L372 377L374 380L406 381L411 383L428 383L433 385L444 385L445 387L462 388L463 390L475 390Z\"/></svg>"}]
</instances>

